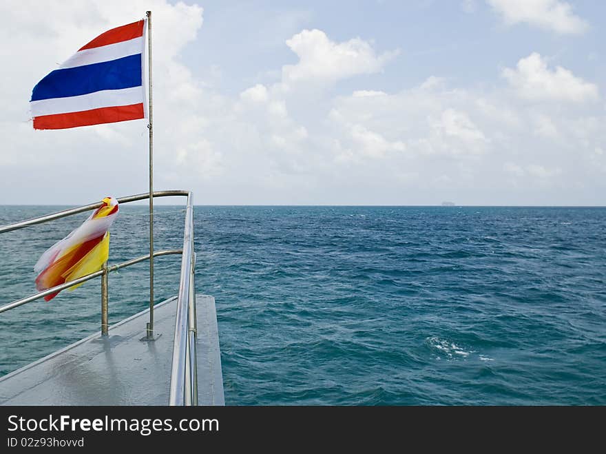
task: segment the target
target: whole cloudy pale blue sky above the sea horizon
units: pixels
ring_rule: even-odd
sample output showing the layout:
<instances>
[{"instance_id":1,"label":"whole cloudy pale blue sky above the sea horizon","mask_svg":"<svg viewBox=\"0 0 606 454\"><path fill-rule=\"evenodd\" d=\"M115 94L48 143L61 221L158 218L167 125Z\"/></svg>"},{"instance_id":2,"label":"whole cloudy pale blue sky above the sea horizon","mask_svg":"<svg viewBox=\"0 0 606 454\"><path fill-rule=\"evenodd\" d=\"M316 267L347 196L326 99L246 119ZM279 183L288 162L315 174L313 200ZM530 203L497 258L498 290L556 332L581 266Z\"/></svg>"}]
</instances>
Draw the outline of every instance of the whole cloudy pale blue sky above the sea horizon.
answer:
<instances>
[{"instance_id":1,"label":"whole cloudy pale blue sky above the sea horizon","mask_svg":"<svg viewBox=\"0 0 606 454\"><path fill-rule=\"evenodd\" d=\"M42 3L0 6L0 203L145 192L145 121L34 132L28 100L151 9L157 189L210 205L604 205L605 2Z\"/></svg>"}]
</instances>

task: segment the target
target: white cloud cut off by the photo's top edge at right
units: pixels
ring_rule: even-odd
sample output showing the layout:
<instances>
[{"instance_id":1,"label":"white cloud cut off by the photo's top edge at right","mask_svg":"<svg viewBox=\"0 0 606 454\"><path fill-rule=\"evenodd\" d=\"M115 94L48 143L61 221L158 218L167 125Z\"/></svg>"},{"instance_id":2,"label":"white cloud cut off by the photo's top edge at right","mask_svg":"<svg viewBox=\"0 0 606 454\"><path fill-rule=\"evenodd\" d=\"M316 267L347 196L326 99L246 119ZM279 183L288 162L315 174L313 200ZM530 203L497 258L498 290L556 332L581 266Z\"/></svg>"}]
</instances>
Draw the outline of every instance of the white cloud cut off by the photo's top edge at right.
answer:
<instances>
[{"instance_id":1,"label":"white cloud cut off by the photo's top edge at right","mask_svg":"<svg viewBox=\"0 0 606 454\"><path fill-rule=\"evenodd\" d=\"M562 34L585 32L589 25L560 0L487 0L508 25L527 23Z\"/></svg>"}]
</instances>

